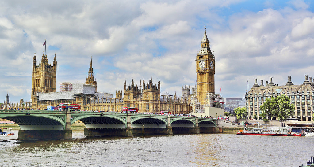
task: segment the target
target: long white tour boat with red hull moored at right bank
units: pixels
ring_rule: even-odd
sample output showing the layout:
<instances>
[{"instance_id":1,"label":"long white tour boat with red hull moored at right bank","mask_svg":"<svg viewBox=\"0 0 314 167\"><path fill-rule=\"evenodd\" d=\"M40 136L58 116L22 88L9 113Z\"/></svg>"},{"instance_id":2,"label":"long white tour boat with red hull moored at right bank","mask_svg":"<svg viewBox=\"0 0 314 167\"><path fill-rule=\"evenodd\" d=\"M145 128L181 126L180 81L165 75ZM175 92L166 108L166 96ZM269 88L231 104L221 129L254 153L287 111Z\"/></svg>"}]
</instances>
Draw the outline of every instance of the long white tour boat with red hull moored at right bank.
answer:
<instances>
[{"instance_id":1,"label":"long white tour boat with red hull moored at right bank","mask_svg":"<svg viewBox=\"0 0 314 167\"><path fill-rule=\"evenodd\" d=\"M265 136L301 136L299 133L292 132L292 126L287 127L268 127L268 128L246 128L239 130L240 135L265 135Z\"/></svg>"}]
</instances>

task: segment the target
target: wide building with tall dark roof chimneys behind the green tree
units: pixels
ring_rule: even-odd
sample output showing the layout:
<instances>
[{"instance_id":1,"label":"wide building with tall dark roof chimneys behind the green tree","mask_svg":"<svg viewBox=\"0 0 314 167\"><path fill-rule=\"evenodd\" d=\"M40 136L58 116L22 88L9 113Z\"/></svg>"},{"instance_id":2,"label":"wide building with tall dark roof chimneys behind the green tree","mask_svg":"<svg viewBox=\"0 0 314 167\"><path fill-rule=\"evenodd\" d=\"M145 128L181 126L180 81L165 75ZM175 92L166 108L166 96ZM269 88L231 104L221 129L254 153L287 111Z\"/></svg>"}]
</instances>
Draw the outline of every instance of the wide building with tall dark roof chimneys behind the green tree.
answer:
<instances>
[{"instance_id":1,"label":"wide building with tall dark roof chimneys behind the green tree","mask_svg":"<svg viewBox=\"0 0 314 167\"><path fill-rule=\"evenodd\" d=\"M253 115L257 115L261 119L262 111L260 106L266 101L266 98L277 97L284 94L290 98L290 103L295 105L295 113L291 118L299 118L302 121L312 121L313 117L313 104L314 104L314 83L312 77L308 80L308 75L305 75L305 81L301 85L294 85L291 82L291 76L288 76L286 85L273 83L273 77L269 77L269 83L266 85L258 85L257 78L255 83L246 93L246 115L252 119ZM276 119L276 118L271 118Z\"/></svg>"}]
</instances>

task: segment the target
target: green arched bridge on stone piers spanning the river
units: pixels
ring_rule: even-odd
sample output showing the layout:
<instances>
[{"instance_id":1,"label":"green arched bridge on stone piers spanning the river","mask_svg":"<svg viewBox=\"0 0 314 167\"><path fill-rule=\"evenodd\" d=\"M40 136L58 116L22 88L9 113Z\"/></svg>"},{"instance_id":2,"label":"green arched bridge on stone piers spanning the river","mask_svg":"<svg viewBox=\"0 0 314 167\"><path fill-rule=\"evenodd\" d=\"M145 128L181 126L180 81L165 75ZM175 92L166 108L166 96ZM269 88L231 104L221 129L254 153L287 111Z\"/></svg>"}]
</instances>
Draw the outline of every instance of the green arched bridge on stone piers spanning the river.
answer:
<instances>
[{"instance_id":1,"label":"green arched bridge on stone piers spanning the river","mask_svg":"<svg viewBox=\"0 0 314 167\"><path fill-rule=\"evenodd\" d=\"M17 123L19 139L72 139L71 125L85 123L85 136L133 136L142 134L178 134L217 132L213 118L168 116L154 114L0 110L0 118Z\"/></svg>"}]
</instances>

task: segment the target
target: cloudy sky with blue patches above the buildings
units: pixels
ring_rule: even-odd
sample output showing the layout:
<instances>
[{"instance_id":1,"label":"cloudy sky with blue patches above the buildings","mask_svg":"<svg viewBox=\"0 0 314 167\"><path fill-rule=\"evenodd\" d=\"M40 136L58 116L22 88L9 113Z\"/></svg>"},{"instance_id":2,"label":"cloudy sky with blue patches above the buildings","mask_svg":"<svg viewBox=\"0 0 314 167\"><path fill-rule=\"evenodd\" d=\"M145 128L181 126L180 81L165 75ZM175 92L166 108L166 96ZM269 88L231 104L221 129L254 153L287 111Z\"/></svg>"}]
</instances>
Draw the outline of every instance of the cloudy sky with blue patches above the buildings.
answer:
<instances>
[{"instance_id":1,"label":"cloudy sky with blue patches above the buildings","mask_svg":"<svg viewBox=\"0 0 314 167\"><path fill-rule=\"evenodd\" d=\"M57 86L86 81L92 57L97 91L160 80L181 97L196 85L206 25L215 57L215 93L243 98L254 78L285 85L314 76L311 0L0 1L0 102L30 101L32 61L57 58ZM248 84L247 84L248 82ZM2 100L1 100L2 99Z\"/></svg>"}]
</instances>

